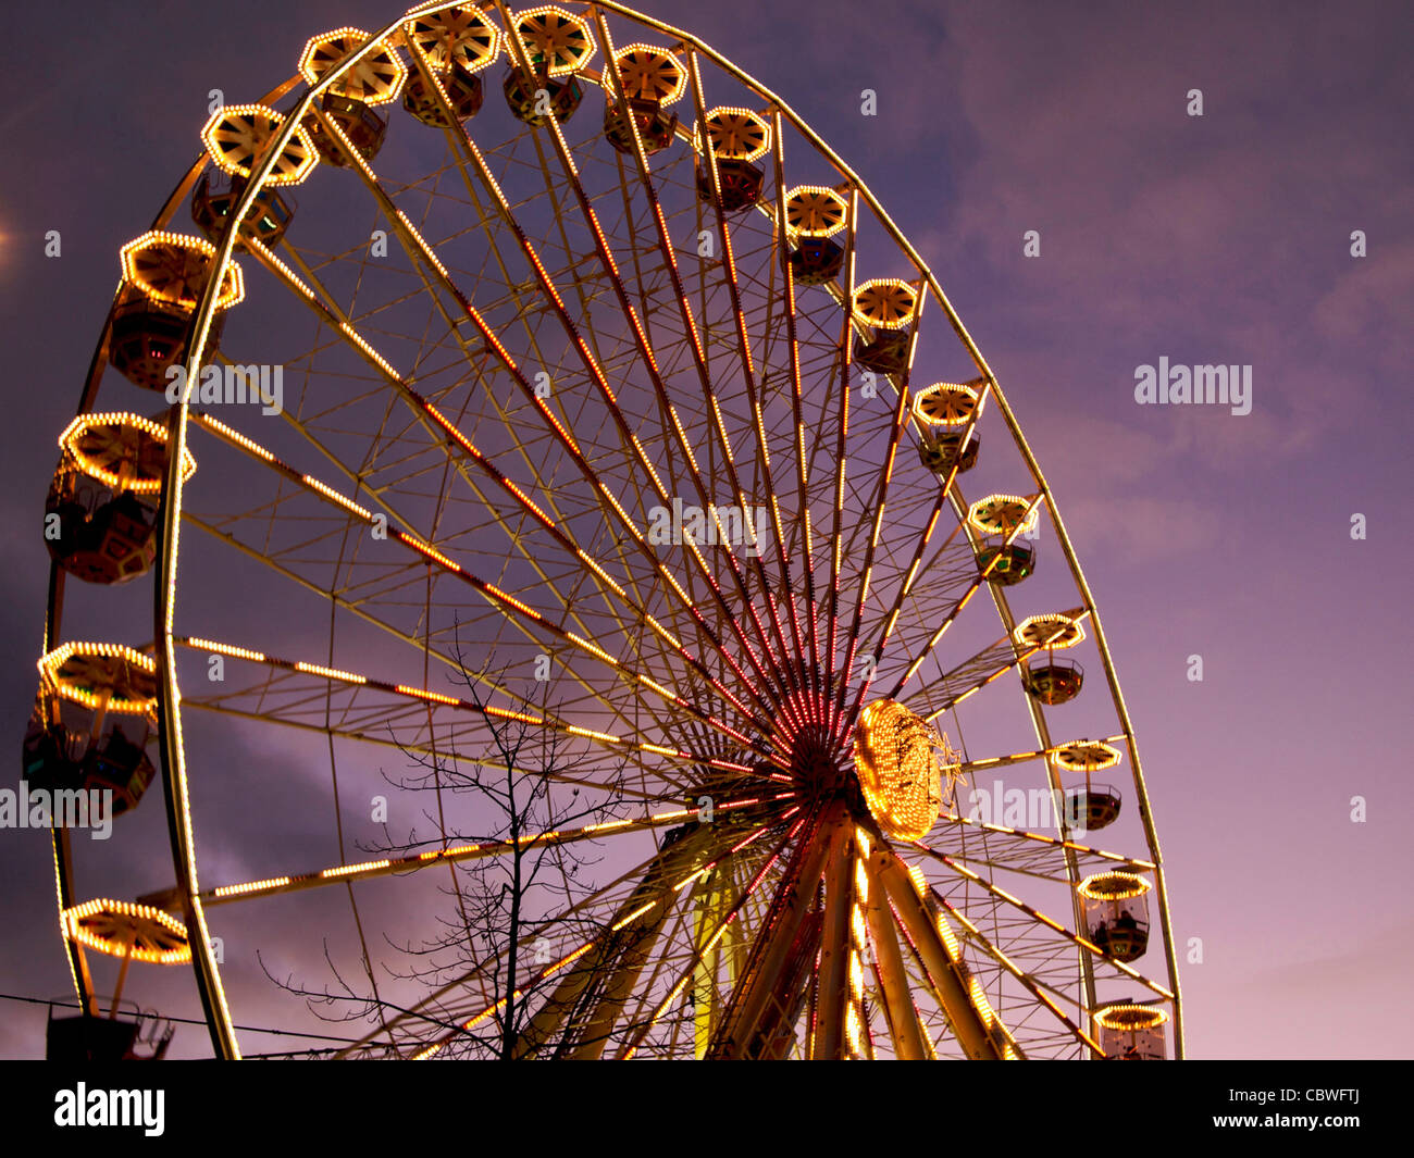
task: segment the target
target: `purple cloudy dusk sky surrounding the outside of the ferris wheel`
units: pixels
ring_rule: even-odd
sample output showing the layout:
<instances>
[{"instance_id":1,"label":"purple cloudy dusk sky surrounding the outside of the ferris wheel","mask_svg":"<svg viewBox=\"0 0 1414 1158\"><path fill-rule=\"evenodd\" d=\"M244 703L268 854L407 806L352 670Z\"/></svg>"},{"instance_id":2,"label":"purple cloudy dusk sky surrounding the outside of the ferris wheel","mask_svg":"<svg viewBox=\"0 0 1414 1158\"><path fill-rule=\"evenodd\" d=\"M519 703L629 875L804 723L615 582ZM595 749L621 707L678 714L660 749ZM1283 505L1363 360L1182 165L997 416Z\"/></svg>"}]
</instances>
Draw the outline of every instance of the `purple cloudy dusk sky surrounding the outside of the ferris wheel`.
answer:
<instances>
[{"instance_id":1,"label":"purple cloudy dusk sky surrounding the outside of the ferris wheel","mask_svg":"<svg viewBox=\"0 0 1414 1158\"><path fill-rule=\"evenodd\" d=\"M1408 1056L1408 7L645 7L778 92L861 175L1007 390L1140 739L1191 1056ZM38 8L7 13L27 48L0 102L0 731L16 749L54 438L117 247L192 160L211 88L253 100L308 35L396 14L252 0L240 21L260 31L239 38L202 4L66 11L59 38L40 34ZM860 116L865 88L877 117ZM1195 88L1202 117L1185 113ZM42 256L48 229L58 260ZM1038 259L1022 257L1029 229ZM1250 365L1251 413L1137 406L1135 366L1161 356ZM1365 542L1349 534L1356 512ZM1202 683L1185 679L1193 653ZM0 990L61 994L45 838L0 833ZM1191 937L1200 964L1184 964ZM0 1055L41 1051L42 1011L7 1004Z\"/></svg>"}]
</instances>

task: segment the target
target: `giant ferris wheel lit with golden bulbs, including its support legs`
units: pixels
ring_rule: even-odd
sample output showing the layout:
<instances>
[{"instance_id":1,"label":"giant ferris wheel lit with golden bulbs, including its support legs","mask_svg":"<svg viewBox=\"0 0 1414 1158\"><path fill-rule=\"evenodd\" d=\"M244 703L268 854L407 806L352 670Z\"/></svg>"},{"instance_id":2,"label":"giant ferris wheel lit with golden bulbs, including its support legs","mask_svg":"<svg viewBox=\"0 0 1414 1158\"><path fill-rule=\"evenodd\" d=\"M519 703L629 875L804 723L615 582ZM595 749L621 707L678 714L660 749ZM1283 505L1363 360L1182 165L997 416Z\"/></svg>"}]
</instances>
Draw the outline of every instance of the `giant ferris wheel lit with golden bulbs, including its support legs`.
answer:
<instances>
[{"instance_id":1,"label":"giant ferris wheel lit with golden bulbs, including its support legs","mask_svg":"<svg viewBox=\"0 0 1414 1158\"><path fill-rule=\"evenodd\" d=\"M112 846L173 865L115 894L55 827L72 1032L137 961L240 1056L238 946L334 936L368 981L339 1056L1182 1056L1055 498L781 98L615 3L428 3L314 37L199 146L47 502L25 778L112 792ZM498 827L460 766L554 823ZM373 853L370 783L406 833ZM575 879L399 987L380 930L550 848Z\"/></svg>"}]
</instances>

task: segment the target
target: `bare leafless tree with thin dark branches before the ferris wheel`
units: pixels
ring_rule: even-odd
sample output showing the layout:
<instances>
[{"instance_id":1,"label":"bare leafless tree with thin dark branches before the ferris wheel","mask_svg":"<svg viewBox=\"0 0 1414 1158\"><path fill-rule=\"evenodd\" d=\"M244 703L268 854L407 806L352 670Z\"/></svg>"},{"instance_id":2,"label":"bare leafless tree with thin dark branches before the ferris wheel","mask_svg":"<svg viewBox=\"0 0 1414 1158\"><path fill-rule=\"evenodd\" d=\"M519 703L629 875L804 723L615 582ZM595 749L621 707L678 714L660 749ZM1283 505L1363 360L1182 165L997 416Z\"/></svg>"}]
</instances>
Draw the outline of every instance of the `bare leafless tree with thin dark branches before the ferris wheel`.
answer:
<instances>
[{"instance_id":1,"label":"bare leafless tree with thin dark branches before the ferris wheel","mask_svg":"<svg viewBox=\"0 0 1414 1158\"><path fill-rule=\"evenodd\" d=\"M481 667L468 667L460 639L455 655L461 666L454 680L485 721L485 748L468 756L438 751L436 744L426 745L431 751L399 744L411 768L396 778L385 772L385 778L396 788L436 797L436 812L424 809L423 816L437 831L437 846L474 843L496 851L448 862L451 884L443 892L451 903L437 918L440 929L421 943L396 946L410 967L387 971L393 980L416 980L433 991L460 981L458 993L474 993L489 1015L464 1028L460 1019L438 1021L428 1011L413 1012L380 995L370 961L363 961L366 983L352 984L327 950L334 984L322 991L298 987L290 978L271 980L308 998L327 1021L386 1025L390 1018L411 1014L430 1027L433 1038L455 1031L444 1056L509 1060L530 1056L544 1043L527 1031L536 1011L551 997L556 954L563 956L570 942L602 940L608 932L575 911L577 902L594 892L588 870L597 860L583 851L588 846L540 837L618 819L624 802L617 790L585 790L573 782L564 771L566 741L553 728L485 711L485 689L508 686L508 672L495 667L495 656ZM549 689L549 683L540 687ZM542 704L542 711L547 707ZM609 778L611 783L619 779ZM469 814L469 820L448 817L447 802L465 805L455 813ZM386 823L385 834L383 843L366 851L399 857L427 851L430 844L416 830L397 841ZM339 1012L327 1012L331 1008Z\"/></svg>"}]
</instances>

